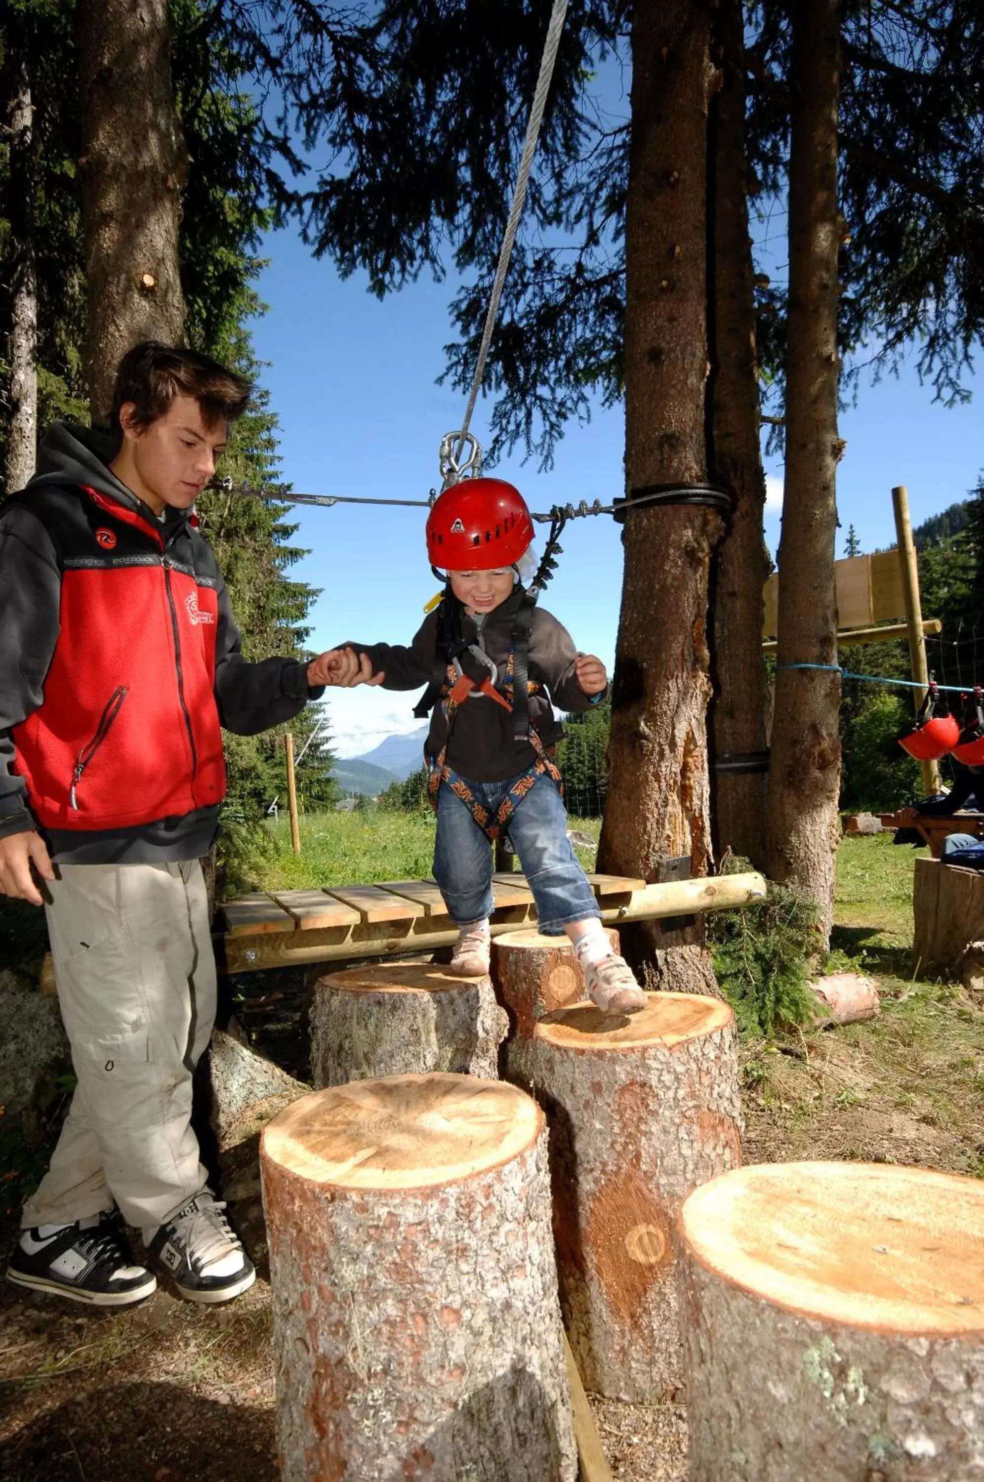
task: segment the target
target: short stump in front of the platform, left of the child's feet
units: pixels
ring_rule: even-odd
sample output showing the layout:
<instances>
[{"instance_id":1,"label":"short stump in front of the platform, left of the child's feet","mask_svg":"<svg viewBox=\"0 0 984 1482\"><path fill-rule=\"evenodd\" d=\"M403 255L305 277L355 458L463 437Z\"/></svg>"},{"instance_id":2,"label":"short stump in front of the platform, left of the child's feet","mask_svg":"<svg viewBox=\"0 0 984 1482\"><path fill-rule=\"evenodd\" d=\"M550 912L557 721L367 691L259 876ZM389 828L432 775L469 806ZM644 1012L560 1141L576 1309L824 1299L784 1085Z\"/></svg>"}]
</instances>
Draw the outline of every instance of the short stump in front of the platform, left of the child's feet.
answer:
<instances>
[{"instance_id":1,"label":"short stump in front of the platform, left of the child's feet","mask_svg":"<svg viewBox=\"0 0 984 1482\"><path fill-rule=\"evenodd\" d=\"M489 978L453 978L430 962L319 978L310 1026L316 1086L425 1070L495 1080L508 1031Z\"/></svg>"}]
</instances>

